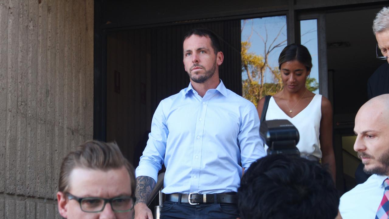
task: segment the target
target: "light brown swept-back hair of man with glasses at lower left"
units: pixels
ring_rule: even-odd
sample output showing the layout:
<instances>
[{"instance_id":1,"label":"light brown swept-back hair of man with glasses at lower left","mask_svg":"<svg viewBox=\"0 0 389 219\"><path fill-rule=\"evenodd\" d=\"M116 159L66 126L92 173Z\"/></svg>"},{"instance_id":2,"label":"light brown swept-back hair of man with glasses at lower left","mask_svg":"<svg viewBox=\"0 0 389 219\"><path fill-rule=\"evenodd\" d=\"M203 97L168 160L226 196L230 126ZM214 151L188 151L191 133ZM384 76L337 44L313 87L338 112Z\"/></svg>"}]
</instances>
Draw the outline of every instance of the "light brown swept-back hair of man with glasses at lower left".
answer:
<instances>
[{"instance_id":1,"label":"light brown swept-back hair of man with glasses at lower left","mask_svg":"<svg viewBox=\"0 0 389 219\"><path fill-rule=\"evenodd\" d=\"M130 175L131 191L135 191L134 168L123 156L116 142L86 141L75 151L70 152L62 161L58 191L70 190L70 173L75 168L91 170L111 170L125 167Z\"/></svg>"}]
</instances>

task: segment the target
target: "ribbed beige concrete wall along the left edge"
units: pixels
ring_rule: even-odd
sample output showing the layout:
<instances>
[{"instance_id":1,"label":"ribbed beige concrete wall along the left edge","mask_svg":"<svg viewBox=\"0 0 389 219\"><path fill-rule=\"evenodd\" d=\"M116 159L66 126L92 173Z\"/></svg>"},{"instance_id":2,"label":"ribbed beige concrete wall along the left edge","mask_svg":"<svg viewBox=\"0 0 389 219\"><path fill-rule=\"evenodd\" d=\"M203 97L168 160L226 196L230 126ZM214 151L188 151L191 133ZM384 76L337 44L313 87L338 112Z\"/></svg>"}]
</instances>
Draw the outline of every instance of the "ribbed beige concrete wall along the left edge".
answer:
<instances>
[{"instance_id":1,"label":"ribbed beige concrete wall along the left edge","mask_svg":"<svg viewBox=\"0 0 389 219\"><path fill-rule=\"evenodd\" d=\"M60 218L63 157L93 138L93 0L0 0L0 218Z\"/></svg>"}]
</instances>

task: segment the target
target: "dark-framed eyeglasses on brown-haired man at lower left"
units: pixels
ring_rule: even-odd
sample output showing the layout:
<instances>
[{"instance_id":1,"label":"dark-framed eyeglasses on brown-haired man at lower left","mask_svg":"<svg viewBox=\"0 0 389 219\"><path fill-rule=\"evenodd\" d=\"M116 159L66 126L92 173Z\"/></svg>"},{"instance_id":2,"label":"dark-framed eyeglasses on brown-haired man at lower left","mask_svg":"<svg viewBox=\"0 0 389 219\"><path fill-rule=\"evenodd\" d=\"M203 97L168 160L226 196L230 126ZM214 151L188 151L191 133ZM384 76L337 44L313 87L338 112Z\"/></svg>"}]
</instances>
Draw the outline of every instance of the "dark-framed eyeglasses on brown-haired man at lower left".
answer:
<instances>
[{"instance_id":1,"label":"dark-framed eyeglasses on brown-haired man at lower left","mask_svg":"<svg viewBox=\"0 0 389 219\"><path fill-rule=\"evenodd\" d=\"M134 208L135 198L131 196L119 196L115 198L98 198L98 197L86 197L80 198L67 193L69 200L76 200L80 203L81 210L83 212L97 213L104 210L105 204L108 202L114 212L129 212Z\"/></svg>"}]
</instances>

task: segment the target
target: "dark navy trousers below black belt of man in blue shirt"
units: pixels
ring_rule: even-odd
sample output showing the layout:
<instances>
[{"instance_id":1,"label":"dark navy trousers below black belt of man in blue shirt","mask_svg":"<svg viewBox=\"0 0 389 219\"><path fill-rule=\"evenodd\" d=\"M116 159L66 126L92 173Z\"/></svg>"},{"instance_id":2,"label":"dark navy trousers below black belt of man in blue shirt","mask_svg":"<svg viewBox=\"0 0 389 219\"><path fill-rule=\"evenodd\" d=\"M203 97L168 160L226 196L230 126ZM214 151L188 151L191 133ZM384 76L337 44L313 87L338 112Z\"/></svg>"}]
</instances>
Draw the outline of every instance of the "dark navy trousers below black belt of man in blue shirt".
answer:
<instances>
[{"instance_id":1,"label":"dark navy trousers below black belt of man in blue shirt","mask_svg":"<svg viewBox=\"0 0 389 219\"><path fill-rule=\"evenodd\" d=\"M165 201L161 219L236 219L240 217L238 206L229 203L190 205Z\"/></svg>"}]
</instances>

